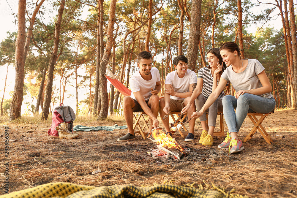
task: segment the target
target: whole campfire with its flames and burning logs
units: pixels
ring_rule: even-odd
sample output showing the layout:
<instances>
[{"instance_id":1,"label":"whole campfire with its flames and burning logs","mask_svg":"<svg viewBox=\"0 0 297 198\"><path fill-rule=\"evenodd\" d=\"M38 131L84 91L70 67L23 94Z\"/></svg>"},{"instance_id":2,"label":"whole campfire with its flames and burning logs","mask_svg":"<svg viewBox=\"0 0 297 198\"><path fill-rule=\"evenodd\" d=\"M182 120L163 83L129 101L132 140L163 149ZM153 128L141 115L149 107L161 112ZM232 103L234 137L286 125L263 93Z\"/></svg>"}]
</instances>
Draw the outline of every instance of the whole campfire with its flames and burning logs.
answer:
<instances>
[{"instance_id":1,"label":"whole campfire with its flames and burning logs","mask_svg":"<svg viewBox=\"0 0 297 198\"><path fill-rule=\"evenodd\" d=\"M183 159L189 155L189 148L180 145L171 136L166 136L162 129L153 129L152 135L159 144L157 149L148 152L151 157L165 156L167 159Z\"/></svg>"}]
</instances>

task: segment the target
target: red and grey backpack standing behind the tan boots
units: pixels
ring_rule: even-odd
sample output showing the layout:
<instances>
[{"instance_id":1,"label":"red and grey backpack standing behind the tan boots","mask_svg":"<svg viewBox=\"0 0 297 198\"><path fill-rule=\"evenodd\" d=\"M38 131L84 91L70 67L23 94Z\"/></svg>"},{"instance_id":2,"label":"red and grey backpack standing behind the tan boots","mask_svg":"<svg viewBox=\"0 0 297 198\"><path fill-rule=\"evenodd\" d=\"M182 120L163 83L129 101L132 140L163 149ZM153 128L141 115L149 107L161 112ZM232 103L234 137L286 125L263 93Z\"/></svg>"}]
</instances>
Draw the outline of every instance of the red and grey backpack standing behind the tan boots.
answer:
<instances>
[{"instance_id":1,"label":"red and grey backpack standing behind the tan boots","mask_svg":"<svg viewBox=\"0 0 297 198\"><path fill-rule=\"evenodd\" d=\"M62 106L63 105L63 106ZM75 120L75 113L69 106L64 106L63 103L56 107L53 113L52 125L48 130L48 134L59 137L59 132L55 129L61 122L68 123L68 130L72 132L73 121Z\"/></svg>"}]
</instances>

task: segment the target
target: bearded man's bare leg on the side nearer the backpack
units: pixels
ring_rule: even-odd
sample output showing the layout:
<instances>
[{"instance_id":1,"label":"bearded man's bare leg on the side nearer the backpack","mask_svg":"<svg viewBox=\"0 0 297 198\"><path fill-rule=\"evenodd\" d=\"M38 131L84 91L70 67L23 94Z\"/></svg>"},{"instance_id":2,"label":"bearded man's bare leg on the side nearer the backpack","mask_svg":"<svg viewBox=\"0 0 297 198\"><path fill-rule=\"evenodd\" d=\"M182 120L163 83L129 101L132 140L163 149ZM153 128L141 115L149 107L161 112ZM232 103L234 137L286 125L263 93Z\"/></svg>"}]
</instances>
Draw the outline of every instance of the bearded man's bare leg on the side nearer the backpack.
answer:
<instances>
[{"instance_id":1,"label":"bearded man's bare leg on the side nearer the backpack","mask_svg":"<svg viewBox=\"0 0 297 198\"><path fill-rule=\"evenodd\" d=\"M130 96L125 96L123 99L123 106L124 118L127 123L128 133L134 135L132 108L135 107L135 102Z\"/></svg>"}]
</instances>

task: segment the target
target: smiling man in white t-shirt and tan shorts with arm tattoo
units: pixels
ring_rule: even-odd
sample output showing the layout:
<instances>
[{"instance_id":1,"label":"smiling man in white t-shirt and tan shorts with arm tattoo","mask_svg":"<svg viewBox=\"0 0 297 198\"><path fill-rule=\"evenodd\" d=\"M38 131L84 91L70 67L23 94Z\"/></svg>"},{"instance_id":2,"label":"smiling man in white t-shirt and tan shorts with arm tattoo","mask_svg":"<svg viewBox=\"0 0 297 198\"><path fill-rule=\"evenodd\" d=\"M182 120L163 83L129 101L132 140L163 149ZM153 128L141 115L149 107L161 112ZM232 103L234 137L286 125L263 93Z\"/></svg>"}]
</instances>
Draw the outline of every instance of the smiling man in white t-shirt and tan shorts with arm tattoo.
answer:
<instances>
[{"instance_id":1,"label":"smiling man in white t-shirt and tan shorts with arm tattoo","mask_svg":"<svg viewBox=\"0 0 297 198\"><path fill-rule=\"evenodd\" d=\"M159 110L161 118L170 111L181 111L182 108L188 104L192 92L197 85L197 76L195 72L188 69L187 57L184 55L176 56L173 59L173 64L176 70L167 75L165 80L164 98L160 99ZM196 111L196 107L193 103L187 113L188 115L192 115L194 111ZM166 135L171 136L169 119L162 119L162 122L166 130ZM189 133L185 141L194 140L194 126L195 119L192 119L189 121Z\"/></svg>"}]
</instances>

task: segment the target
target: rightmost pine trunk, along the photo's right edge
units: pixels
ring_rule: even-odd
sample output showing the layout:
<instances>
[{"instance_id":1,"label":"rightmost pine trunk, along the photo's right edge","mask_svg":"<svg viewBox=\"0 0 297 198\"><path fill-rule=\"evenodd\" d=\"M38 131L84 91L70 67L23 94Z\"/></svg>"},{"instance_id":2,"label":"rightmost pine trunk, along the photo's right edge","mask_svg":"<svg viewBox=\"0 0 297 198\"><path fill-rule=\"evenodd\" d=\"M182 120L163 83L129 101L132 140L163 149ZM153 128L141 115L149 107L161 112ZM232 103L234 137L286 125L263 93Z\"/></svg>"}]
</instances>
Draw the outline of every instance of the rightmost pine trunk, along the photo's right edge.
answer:
<instances>
[{"instance_id":1,"label":"rightmost pine trunk, along the photo's right edge","mask_svg":"<svg viewBox=\"0 0 297 198\"><path fill-rule=\"evenodd\" d=\"M289 0L289 10L290 10L290 20L291 20L291 33L292 33L292 51L293 51L293 96L294 96L294 105L293 108L297 110L297 38L296 38L296 23L295 23L295 13L293 0Z\"/></svg>"}]
</instances>

